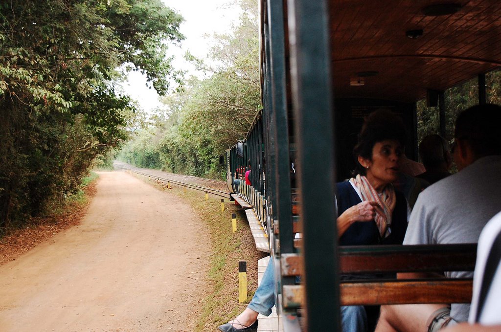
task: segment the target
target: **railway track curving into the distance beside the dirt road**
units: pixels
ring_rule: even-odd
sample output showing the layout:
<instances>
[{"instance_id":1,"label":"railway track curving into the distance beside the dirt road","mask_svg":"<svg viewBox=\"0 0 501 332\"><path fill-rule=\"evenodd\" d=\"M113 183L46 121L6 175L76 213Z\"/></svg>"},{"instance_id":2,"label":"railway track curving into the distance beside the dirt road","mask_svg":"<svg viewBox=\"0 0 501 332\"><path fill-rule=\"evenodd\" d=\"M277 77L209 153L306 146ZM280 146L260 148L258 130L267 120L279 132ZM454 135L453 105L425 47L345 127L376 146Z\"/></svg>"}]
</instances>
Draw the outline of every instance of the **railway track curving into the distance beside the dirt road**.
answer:
<instances>
[{"instance_id":1,"label":"railway track curving into the distance beside the dirt road","mask_svg":"<svg viewBox=\"0 0 501 332\"><path fill-rule=\"evenodd\" d=\"M213 194L216 196L224 197L230 199L230 194L226 190L221 190L221 188L226 186L226 183L224 181L217 181L217 180L210 180L210 179L204 179L204 178L199 178L196 176L190 176L190 175L180 175L180 174L173 174L173 173L165 173L165 172L160 172L157 170L147 170L147 169L142 169L142 168L136 168L134 166L131 166L129 164L125 164L122 162L117 162L115 161L113 163L113 166L116 168L121 168L125 170L129 170L131 172L134 172L136 174L140 174L143 176L147 176L152 179L156 179L159 181L163 182L170 182L174 184L178 184L181 186L185 186L187 188L195 189L195 190L200 190L200 191L205 191L209 194ZM161 174L158 174L161 173ZM179 179L185 179L179 180ZM190 180L190 181L186 181ZM202 182L202 183L207 183L208 185L199 185L193 183L193 181L196 182ZM212 185L210 185L212 184ZM217 188L214 188L214 185L217 186Z\"/></svg>"}]
</instances>

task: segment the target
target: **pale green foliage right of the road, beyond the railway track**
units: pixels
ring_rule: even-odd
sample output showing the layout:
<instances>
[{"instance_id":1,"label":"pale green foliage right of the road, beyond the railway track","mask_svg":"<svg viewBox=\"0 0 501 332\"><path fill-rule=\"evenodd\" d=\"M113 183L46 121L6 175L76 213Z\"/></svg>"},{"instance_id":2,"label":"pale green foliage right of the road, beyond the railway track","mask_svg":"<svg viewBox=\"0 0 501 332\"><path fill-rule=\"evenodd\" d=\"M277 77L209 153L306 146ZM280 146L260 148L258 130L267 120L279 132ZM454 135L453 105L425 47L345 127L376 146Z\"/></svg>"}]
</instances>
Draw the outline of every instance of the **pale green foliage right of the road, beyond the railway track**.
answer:
<instances>
[{"instance_id":1,"label":"pale green foliage right of the road, beyond the railway track","mask_svg":"<svg viewBox=\"0 0 501 332\"><path fill-rule=\"evenodd\" d=\"M258 6L254 0L240 1L239 6L239 25L213 36L210 59L186 56L208 78L191 78L182 92L164 98L166 113L150 121L149 131L122 150L122 160L224 178L219 156L245 137L261 107Z\"/></svg>"}]
</instances>

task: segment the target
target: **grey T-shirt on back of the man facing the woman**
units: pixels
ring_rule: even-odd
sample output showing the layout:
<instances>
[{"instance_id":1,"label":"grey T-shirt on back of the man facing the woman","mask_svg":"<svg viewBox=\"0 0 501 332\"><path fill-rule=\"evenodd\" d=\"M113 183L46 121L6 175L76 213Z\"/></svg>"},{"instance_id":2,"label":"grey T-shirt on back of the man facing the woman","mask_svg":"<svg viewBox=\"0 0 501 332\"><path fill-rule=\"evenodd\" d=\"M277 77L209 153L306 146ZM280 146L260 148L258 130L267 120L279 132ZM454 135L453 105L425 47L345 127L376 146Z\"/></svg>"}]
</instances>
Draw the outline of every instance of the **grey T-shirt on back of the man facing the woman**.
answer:
<instances>
[{"instance_id":1,"label":"grey T-shirt on back of the man facing the woman","mask_svg":"<svg viewBox=\"0 0 501 332\"><path fill-rule=\"evenodd\" d=\"M498 160L501 162L501 158ZM437 243L477 242L483 225L499 211L501 195L498 190L501 179L495 176L492 160L479 161L421 192L409 227L412 228L412 223L419 224L418 228L425 228L425 232L431 234L428 240Z\"/></svg>"}]
</instances>

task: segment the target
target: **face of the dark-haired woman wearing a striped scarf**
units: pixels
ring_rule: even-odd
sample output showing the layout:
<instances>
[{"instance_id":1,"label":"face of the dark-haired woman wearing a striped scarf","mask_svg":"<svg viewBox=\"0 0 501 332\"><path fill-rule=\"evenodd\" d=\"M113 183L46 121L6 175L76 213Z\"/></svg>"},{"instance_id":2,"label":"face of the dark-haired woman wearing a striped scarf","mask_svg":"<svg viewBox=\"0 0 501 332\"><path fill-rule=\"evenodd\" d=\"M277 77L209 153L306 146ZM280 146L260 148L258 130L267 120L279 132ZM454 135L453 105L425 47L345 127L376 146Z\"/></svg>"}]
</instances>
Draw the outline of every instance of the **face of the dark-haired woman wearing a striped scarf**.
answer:
<instances>
[{"instance_id":1,"label":"face of the dark-haired woman wearing a striped scarf","mask_svg":"<svg viewBox=\"0 0 501 332\"><path fill-rule=\"evenodd\" d=\"M359 157L359 162L367 170L367 180L376 190L397 180L401 155L402 146L398 141L384 140L372 147L371 160Z\"/></svg>"}]
</instances>

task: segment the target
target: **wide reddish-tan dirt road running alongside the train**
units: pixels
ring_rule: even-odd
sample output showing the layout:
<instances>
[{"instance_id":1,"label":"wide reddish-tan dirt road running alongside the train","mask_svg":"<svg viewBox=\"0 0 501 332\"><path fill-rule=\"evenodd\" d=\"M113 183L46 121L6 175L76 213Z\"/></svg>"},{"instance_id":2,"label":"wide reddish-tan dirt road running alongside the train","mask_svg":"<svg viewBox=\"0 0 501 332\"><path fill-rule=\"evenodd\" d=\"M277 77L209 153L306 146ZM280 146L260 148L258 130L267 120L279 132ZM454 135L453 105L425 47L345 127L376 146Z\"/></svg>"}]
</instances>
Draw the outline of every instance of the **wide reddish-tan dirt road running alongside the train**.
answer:
<instances>
[{"instance_id":1,"label":"wide reddish-tan dirt road running alongside the train","mask_svg":"<svg viewBox=\"0 0 501 332\"><path fill-rule=\"evenodd\" d=\"M177 196L102 172L81 224L0 267L0 331L192 331L210 243Z\"/></svg>"}]
</instances>

